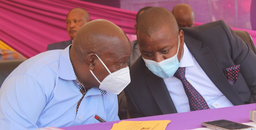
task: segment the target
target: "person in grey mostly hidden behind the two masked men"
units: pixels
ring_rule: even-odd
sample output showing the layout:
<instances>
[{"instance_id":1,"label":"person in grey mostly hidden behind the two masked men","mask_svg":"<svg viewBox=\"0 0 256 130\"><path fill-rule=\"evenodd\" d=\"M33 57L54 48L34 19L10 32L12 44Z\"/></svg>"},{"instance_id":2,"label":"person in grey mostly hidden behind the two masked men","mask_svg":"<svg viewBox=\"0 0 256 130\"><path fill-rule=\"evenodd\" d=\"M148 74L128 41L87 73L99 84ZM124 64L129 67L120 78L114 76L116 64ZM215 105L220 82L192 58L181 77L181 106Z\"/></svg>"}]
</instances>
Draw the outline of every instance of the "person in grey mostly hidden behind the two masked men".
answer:
<instances>
[{"instance_id":1,"label":"person in grey mostly hidden behind the two masked men","mask_svg":"<svg viewBox=\"0 0 256 130\"><path fill-rule=\"evenodd\" d=\"M151 6L146 6L142 9L139 10L136 16L136 22L138 21L138 18L140 15L147 9L152 8ZM137 23L134 25L136 29ZM139 45L137 44L137 40L134 40L131 42L131 47L132 47L132 52L131 56L129 57L126 65L127 66L132 66L132 64L140 57L140 50L139 50ZM126 102L126 97L124 91L122 91L120 94L117 95L118 97L118 116L120 119L127 119L127 102Z\"/></svg>"}]
</instances>

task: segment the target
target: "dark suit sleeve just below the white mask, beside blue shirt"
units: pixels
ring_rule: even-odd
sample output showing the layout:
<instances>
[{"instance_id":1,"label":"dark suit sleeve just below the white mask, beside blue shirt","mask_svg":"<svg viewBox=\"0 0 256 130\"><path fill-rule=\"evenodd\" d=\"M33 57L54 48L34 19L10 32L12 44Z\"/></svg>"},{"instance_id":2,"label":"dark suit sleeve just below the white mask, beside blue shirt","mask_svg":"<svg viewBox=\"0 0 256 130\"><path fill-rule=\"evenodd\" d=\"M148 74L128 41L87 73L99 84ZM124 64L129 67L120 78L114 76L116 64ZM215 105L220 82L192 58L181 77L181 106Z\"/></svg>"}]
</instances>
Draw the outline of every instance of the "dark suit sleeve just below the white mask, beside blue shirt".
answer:
<instances>
[{"instance_id":1,"label":"dark suit sleeve just below the white mask, beside blue shirt","mask_svg":"<svg viewBox=\"0 0 256 130\"><path fill-rule=\"evenodd\" d=\"M129 85L125 88L125 96L127 100L127 107L128 107L128 118L139 118L139 117L145 117L140 110L138 109L136 103L134 102L130 92L129 92Z\"/></svg>"}]
</instances>

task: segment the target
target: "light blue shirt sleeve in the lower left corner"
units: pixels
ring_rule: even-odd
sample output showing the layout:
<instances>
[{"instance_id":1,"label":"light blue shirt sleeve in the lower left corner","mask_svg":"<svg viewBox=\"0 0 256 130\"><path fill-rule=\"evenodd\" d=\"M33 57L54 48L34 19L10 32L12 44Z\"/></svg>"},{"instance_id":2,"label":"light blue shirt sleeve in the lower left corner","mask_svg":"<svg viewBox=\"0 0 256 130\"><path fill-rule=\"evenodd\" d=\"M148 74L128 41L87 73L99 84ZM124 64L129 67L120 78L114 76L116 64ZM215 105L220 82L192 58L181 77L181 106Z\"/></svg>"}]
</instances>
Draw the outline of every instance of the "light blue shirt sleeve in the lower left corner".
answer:
<instances>
[{"instance_id":1,"label":"light blue shirt sleeve in the lower left corner","mask_svg":"<svg viewBox=\"0 0 256 130\"><path fill-rule=\"evenodd\" d=\"M9 78L0 89L0 128L37 129L37 119L45 104L46 97L37 80L27 75Z\"/></svg>"}]
</instances>

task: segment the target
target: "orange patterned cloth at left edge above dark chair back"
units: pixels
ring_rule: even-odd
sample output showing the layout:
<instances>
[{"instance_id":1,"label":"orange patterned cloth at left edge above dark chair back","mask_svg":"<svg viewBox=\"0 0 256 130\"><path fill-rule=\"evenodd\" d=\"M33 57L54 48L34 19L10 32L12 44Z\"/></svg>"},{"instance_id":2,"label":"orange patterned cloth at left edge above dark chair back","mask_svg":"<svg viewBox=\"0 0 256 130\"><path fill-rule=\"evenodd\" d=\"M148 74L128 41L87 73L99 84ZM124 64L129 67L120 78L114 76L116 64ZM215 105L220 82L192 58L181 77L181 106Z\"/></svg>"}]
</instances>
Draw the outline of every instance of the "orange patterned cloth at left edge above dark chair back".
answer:
<instances>
[{"instance_id":1,"label":"orange patterned cloth at left edge above dark chair back","mask_svg":"<svg viewBox=\"0 0 256 130\"><path fill-rule=\"evenodd\" d=\"M22 59L26 59L26 58L24 58L20 53L0 48L0 61L22 60Z\"/></svg>"}]
</instances>

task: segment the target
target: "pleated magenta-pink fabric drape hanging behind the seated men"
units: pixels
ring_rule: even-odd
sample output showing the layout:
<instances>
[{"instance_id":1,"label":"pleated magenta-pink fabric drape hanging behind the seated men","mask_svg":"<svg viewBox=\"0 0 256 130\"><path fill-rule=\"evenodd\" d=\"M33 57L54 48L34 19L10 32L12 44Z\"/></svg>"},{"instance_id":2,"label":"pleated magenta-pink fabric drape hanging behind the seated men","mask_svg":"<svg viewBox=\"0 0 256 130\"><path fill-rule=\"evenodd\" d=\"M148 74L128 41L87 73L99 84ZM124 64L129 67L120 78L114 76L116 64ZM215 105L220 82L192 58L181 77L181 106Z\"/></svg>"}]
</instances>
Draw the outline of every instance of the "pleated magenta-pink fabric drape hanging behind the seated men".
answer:
<instances>
[{"instance_id":1,"label":"pleated magenta-pink fabric drape hanging behind the seated men","mask_svg":"<svg viewBox=\"0 0 256 130\"><path fill-rule=\"evenodd\" d=\"M9 0L0 2L0 40L27 58L44 52L48 44L70 39L65 20L74 7L87 10L91 20L112 21L136 39L134 11L79 0ZM256 41L256 31L246 31Z\"/></svg>"}]
</instances>

